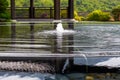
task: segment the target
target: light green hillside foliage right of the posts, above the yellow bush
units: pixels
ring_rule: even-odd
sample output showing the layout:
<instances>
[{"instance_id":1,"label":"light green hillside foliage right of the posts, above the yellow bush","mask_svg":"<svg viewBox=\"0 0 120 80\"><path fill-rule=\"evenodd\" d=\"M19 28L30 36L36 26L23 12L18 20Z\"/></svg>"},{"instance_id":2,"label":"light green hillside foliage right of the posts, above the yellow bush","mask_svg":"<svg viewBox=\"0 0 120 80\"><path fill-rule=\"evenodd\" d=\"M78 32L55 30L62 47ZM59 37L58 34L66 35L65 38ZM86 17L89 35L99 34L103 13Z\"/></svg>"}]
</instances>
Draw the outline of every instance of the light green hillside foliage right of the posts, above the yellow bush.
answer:
<instances>
[{"instance_id":1,"label":"light green hillside foliage right of the posts, above the yellow bush","mask_svg":"<svg viewBox=\"0 0 120 80\"><path fill-rule=\"evenodd\" d=\"M75 0L78 11L91 12L94 10L107 10L120 4L120 0Z\"/></svg>"}]
</instances>

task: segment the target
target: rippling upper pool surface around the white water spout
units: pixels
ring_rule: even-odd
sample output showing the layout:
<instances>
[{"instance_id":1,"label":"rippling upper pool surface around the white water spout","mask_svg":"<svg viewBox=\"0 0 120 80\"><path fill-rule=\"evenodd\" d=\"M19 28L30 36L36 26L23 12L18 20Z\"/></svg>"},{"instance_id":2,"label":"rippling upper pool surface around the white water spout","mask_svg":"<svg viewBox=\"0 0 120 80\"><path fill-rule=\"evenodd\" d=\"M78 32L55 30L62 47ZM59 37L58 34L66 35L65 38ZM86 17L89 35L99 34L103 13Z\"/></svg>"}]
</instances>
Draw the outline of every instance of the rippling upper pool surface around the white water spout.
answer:
<instances>
[{"instance_id":1,"label":"rippling upper pool surface around the white water spout","mask_svg":"<svg viewBox=\"0 0 120 80\"><path fill-rule=\"evenodd\" d=\"M120 25L117 24L75 24L74 30L66 29L62 34L54 30L53 24L47 30L46 28L49 25L34 24L32 25L33 29L30 26L29 24L24 26L23 24L16 24L16 33L11 32L10 27L5 28L5 31L4 29L1 30L0 51L12 51L12 49L15 51L19 51L19 49L45 51L47 49L51 52L57 44L61 44L59 47L61 47L62 53L68 53L65 49L69 47L72 47L73 51L120 51ZM11 38L14 35L15 37Z\"/></svg>"}]
</instances>

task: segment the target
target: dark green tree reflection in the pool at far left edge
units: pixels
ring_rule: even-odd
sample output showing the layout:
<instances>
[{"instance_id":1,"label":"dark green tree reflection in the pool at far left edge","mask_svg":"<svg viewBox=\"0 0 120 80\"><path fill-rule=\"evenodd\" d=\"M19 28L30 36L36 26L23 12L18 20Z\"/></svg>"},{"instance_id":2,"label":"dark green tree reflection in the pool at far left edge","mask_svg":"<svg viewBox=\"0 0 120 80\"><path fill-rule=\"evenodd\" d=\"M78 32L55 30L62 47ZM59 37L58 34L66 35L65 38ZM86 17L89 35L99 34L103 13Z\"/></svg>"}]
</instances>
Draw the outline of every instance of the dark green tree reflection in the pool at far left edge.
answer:
<instances>
[{"instance_id":1,"label":"dark green tree reflection in the pool at far left edge","mask_svg":"<svg viewBox=\"0 0 120 80\"><path fill-rule=\"evenodd\" d=\"M0 38L5 38L10 36L9 26L0 26Z\"/></svg>"}]
</instances>

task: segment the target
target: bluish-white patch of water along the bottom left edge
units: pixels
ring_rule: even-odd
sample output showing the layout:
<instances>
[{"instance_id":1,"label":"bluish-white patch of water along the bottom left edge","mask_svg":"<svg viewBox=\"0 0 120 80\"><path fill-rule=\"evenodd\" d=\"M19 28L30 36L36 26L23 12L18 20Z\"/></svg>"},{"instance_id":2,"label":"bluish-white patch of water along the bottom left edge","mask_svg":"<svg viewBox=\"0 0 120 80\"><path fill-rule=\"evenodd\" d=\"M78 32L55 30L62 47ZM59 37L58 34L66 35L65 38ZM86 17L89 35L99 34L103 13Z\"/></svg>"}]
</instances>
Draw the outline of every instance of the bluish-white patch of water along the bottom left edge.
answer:
<instances>
[{"instance_id":1,"label":"bluish-white patch of water along the bottom left edge","mask_svg":"<svg viewBox=\"0 0 120 80\"><path fill-rule=\"evenodd\" d=\"M0 80L45 80L54 79L52 74L42 73L25 73L25 72L14 72L5 71L0 72Z\"/></svg>"}]
</instances>

